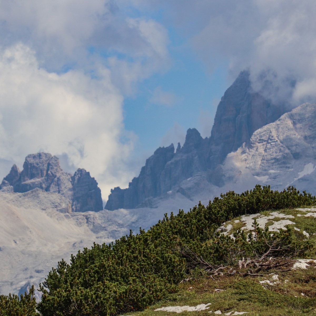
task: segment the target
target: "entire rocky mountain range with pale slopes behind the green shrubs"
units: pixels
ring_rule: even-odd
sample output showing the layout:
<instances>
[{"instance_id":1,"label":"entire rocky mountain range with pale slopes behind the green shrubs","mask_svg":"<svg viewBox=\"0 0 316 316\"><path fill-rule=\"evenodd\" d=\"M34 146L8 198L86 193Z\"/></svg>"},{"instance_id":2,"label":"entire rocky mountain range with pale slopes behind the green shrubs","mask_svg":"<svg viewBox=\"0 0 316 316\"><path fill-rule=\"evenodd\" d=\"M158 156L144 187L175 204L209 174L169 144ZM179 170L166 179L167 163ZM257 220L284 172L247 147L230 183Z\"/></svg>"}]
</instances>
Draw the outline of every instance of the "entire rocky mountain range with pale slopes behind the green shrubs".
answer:
<instances>
[{"instance_id":1,"label":"entire rocky mountain range with pale slopes behind the green shrubs","mask_svg":"<svg viewBox=\"0 0 316 316\"><path fill-rule=\"evenodd\" d=\"M254 92L240 73L222 97L210 137L189 129L183 146L155 150L128 188L101 191L84 169L64 172L48 153L28 155L0 185L0 294L43 281L61 258L94 241L148 229L179 208L256 184L316 193L316 105L291 108Z\"/></svg>"}]
</instances>

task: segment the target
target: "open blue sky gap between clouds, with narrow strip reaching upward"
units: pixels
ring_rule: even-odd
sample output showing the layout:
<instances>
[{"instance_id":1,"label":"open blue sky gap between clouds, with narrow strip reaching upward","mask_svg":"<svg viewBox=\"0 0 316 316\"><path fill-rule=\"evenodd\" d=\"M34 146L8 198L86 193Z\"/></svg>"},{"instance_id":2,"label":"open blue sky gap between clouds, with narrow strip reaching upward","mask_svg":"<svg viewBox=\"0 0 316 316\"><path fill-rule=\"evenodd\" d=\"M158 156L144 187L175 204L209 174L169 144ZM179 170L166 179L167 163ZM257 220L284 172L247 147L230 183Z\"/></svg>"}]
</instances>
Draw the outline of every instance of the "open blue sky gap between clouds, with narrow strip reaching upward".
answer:
<instances>
[{"instance_id":1,"label":"open blue sky gap between clouds, with narrow strip reaching upward","mask_svg":"<svg viewBox=\"0 0 316 316\"><path fill-rule=\"evenodd\" d=\"M228 63L205 71L187 38L166 23L163 9L133 13L133 17L146 15L166 27L171 59L167 69L139 83L124 100L125 128L137 134L137 150L148 155L172 142L175 147L178 141L183 145L186 130L193 127L209 137L218 102L231 83Z\"/></svg>"}]
</instances>

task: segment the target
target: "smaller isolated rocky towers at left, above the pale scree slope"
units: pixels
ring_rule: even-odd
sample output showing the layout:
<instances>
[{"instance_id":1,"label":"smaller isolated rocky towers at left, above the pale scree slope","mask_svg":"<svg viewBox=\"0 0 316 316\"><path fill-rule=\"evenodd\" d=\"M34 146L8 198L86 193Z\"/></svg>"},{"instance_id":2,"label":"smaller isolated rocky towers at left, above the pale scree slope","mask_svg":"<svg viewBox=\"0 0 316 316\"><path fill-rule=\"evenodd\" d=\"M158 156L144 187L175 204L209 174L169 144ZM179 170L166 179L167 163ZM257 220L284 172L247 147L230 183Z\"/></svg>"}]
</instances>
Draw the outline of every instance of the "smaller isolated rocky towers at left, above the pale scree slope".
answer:
<instances>
[{"instance_id":1,"label":"smaller isolated rocky towers at left, above the pale scree slope","mask_svg":"<svg viewBox=\"0 0 316 316\"><path fill-rule=\"evenodd\" d=\"M59 159L48 153L28 155L21 172L13 165L0 185L0 190L7 192L24 193L35 188L61 194L69 200L73 212L102 210L101 192L90 173L78 169L71 176L61 169Z\"/></svg>"}]
</instances>

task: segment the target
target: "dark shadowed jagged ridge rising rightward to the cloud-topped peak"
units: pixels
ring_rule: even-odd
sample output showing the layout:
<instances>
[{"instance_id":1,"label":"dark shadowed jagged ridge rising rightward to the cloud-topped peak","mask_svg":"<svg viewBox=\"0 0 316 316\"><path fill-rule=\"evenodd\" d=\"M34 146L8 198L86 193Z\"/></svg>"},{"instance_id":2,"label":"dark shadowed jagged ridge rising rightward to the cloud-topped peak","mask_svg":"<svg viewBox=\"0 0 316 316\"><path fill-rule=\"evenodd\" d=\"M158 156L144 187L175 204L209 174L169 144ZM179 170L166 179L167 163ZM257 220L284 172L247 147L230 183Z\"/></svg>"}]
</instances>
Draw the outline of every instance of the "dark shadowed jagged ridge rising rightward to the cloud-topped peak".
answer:
<instances>
[{"instance_id":1,"label":"dark shadowed jagged ridge rising rightward to the cloud-topped peak","mask_svg":"<svg viewBox=\"0 0 316 316\"><path fill-rule=\"evenodd\" d=\"M202 138L196 129L189 129L183 147L178 143L176 152L173 144L158 148L127 189L111 190L105 208L151 207L154 198L174 190L190 198L194 192L183 189L181 182L201 172L209 184L223 185L219 164L243 143L248 144L254 131L285 112L285 106L273 105L260 93L253 92L249 72L241 72L217 107L211 136Z\"/></svg>"}]
</instances>

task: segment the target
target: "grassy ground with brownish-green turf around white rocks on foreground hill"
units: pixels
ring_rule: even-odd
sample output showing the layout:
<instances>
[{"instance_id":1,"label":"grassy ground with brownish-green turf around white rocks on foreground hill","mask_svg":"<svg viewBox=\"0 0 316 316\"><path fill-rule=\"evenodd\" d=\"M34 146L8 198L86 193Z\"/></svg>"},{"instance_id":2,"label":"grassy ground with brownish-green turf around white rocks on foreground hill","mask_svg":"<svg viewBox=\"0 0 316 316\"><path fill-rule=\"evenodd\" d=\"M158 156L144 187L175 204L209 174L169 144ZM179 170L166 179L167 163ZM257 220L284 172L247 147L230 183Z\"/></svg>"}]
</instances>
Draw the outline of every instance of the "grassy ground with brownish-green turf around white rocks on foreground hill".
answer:
<instances>
[{"instance_id":1,"label":"grassy ground with brownish-green turf around white rocks on foreground hill","mask_svg":"<svg viewBox=\"0 0 316 316\"><path fill-rule=\"evenodd\" d=\"M297 210L282 210L286 215L292 215L295 222L297 238L305 238L302 231L310 234L309 240L316 245L316 218L297 216L306 213ZM264 212L262 215L269 215ZM277 216L276 216L277 217ZM240 219L240 218L239 218ZM276 221L278 218L275 218ZM232 223L235 219L232 220ZM228 222L229 224L229 222ZM270 223L267 223L269 225ZM236 229L240 225L235 225ZM198 312L182 312L181 315L215 315L209 313L221 310L222 314L231 311L248 312L244 315L316 315L316 267L306 270L297 269L288 272L269 270L264 277L242 277L239 274L217 277L215 280L196 270L190 282L182 283L179 292L167 300L161 301L143 312L129 313L133 316L164 316L170 312L154 310L164 306L196 306L211 303L210 308ZM263 285L259 281L272 280L277 274L280 283ZM288 281L285 281L288 280ZM223 291L216 291L222 289ZM306 296L301 295L303 293ZM175 313L173 313L175 314Z\"/></svg>"}]
</instances>

